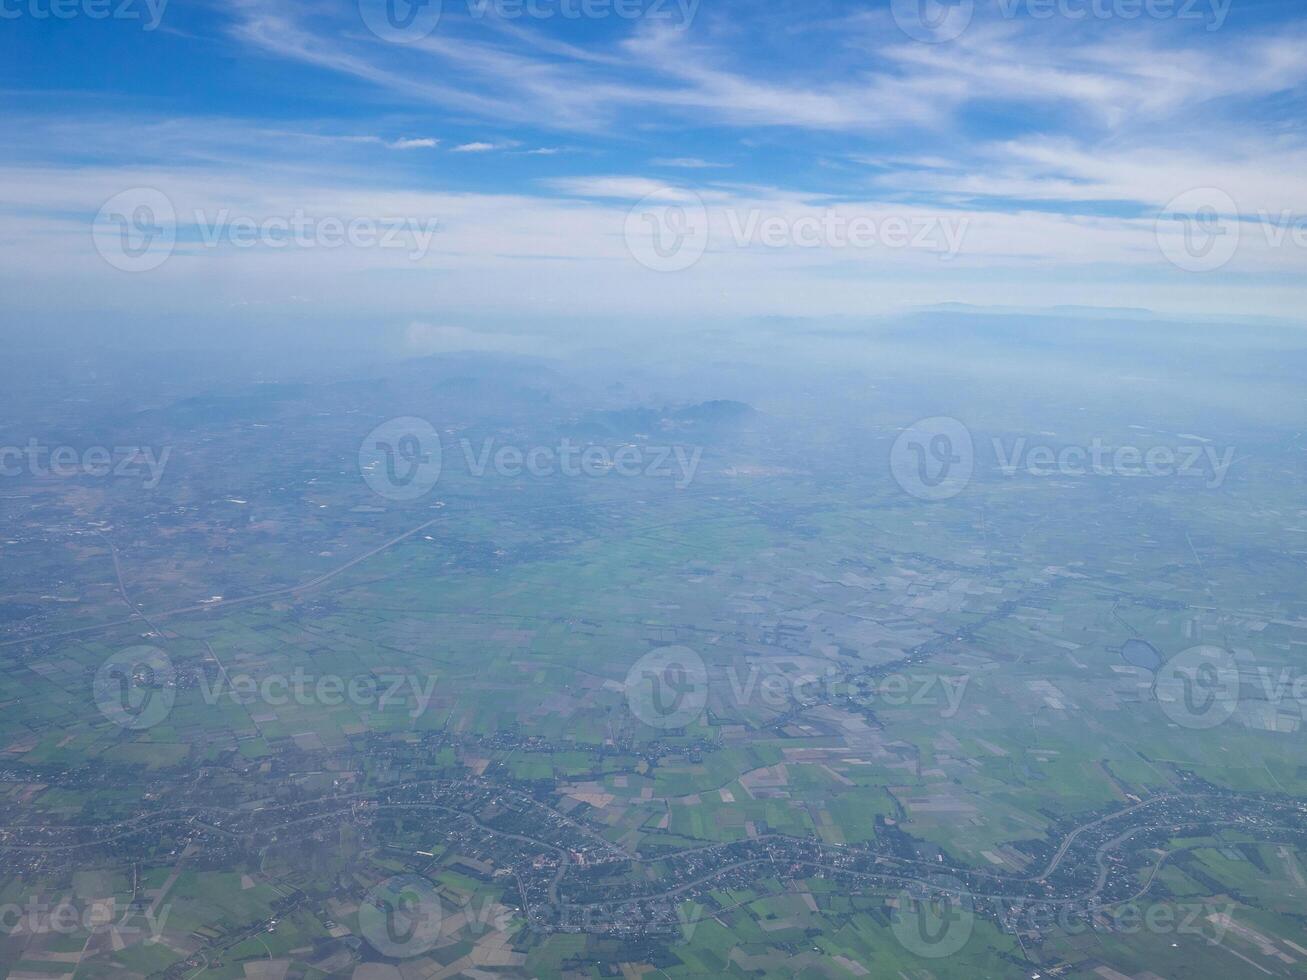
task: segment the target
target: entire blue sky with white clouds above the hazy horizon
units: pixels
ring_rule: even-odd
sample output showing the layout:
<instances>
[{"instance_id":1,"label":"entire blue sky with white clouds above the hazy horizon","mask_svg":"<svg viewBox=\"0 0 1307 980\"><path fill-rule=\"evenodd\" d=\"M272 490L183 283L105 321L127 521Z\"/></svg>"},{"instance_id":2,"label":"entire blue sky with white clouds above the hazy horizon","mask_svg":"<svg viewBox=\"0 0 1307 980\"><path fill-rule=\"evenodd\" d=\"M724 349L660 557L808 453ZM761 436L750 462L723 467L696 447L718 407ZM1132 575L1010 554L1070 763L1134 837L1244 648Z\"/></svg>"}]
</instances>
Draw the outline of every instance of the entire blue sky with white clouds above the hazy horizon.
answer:
<instances>
[{"instance_id":1,"label":"entire blue sky with white clouds above the hazy horizon","mask_svg":"<svg viewBox=\"0 0 1307 980\"><path fill-rule=\"evenodd\" d=\"M387 0L59 1L0 0L0 285L26 316L200 302L467 340L497 316L1303 308L1295 0L444 0L397 41ZM139 188L178 229L132 273L90 226ZM1195 188L1239 239L1197 270L1158 231ZM650 206L651 234L703 216L702 257L642 261ZM299 213L438 231L416 256L213 230ZM860 218L923 247L852 247Z\"/></svg>"}]
</instances>

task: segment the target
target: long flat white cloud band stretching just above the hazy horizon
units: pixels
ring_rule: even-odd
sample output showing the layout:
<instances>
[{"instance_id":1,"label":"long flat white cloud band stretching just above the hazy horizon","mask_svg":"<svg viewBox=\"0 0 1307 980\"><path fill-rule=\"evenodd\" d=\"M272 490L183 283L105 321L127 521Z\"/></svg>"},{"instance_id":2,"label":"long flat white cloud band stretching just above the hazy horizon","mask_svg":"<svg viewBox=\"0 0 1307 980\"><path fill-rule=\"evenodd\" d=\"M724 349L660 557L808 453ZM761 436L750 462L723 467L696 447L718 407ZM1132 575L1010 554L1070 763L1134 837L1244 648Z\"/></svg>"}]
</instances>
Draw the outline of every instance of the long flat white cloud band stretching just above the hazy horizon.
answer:
<instances>
[{"instance_id":1,"label":"long flat white cloud band stretching just above the hazy horizon","mask_svg":"<svg viewBox=\"0 0 1307 980\"><path fill-rule=\"evenodd\" d=\"M366 180L269 176L247 163L209 170L140 167L0 169L0 290L14 308L170 314L196 304L295 315L404 316L457 323L460 311L520 318L870 315L904 304L1076 303L1187 312L1297 315L1307 286L1302 248L1270 247L1246 229L1236 259L1218 276L1168 265L1148 218L904 205L884 199L833 201L783 189L716 187L703 193L710 242L677 274L640 267L627 247L630 203L685 191L640 176L557 183L571 197L380 189ZM93 248L89 216L131 187L165 192L186 226L196 213L255 223L297 212L319 218L434 222L430 248L205 247L188 234L158 269L128 274ZM780 248L735 239L753 217L821 223L889 218L921 226L966 223L951 261L925 248ZM77 307L81 308L81 307ZM417 336L417 335L416 335ZM430 344L471 344L438 327ZM501 342L501 341L494 341ZM505 341L507 342L507 341ZM516 344L516 341L512 341Z\"/></svg>"}]
</instances>

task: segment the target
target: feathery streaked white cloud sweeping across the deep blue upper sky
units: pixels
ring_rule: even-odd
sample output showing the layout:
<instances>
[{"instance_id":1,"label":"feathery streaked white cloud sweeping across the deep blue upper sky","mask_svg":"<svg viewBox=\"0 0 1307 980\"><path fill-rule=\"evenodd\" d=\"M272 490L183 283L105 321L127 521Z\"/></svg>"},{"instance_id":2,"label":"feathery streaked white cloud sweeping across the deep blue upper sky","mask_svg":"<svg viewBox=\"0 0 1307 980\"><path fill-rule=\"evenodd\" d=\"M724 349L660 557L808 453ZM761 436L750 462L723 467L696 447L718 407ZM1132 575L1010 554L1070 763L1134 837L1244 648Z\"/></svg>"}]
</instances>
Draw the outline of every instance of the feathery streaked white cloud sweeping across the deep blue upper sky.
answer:
<instances>
[{"instance_id":1,"label":"feathery streaked white cloud sweeping across the deep blue upper sky","mask_svg":"<svg viewBox=\"0 0 1307 980\"><path fill-rule=\"evenodd\" d=\"M948 139L961 114L996 102L1055 107L1061 128L1116 131L1171 122L1197 106L1208 107L1209 122L1238 118L1223 101L1256 99L1307 80L1300 27L1226 42L1216 60L1208 34L1116 30L1129 29L1127 21L1086 35L1070 22L978 16L957 41L920 44L880 10L810 25L840 56L796 59L778 72L771 60L746 63L746 39L721 43L729 31L643 25L608 51L525 29L493 43L440 31L405 46L409 56L401 59L395 46L314 31L281 5L243 0L237 9L235 37L264 51L447 111L561 131L601 132L622 114L656 111L680 122L840 133L915 129Z\"/></svg>"}]
</instances>

